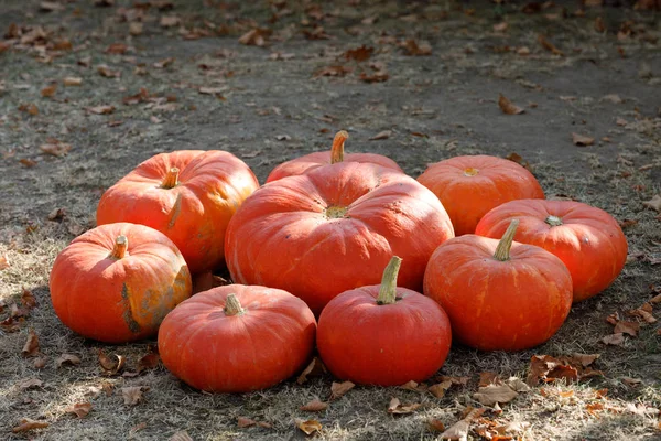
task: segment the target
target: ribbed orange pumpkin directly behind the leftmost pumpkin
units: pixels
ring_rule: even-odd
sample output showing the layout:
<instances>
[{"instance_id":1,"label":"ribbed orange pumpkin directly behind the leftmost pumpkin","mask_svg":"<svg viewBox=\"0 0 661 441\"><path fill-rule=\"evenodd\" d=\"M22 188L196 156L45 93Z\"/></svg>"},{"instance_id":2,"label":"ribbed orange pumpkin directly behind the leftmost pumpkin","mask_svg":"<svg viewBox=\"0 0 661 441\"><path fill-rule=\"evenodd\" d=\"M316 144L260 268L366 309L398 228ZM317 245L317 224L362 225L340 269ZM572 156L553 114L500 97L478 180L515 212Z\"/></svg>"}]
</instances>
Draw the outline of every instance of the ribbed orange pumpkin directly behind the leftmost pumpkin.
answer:
<instances>
[{"instance_id":1,"label":"ribbed orange pumpkin directly behind the leftmost pumpkin","mask_svg":"<svg viewBox=\"0 0 661 441\"><path fill-rule=\"evenodd\" d=\"M223 265L227 224L258 187L252 171L231 153L161 153L104 193L97 224L130 222L155 228L176 244L191 272L204 272Z\"/></svg>"}]
</instances>

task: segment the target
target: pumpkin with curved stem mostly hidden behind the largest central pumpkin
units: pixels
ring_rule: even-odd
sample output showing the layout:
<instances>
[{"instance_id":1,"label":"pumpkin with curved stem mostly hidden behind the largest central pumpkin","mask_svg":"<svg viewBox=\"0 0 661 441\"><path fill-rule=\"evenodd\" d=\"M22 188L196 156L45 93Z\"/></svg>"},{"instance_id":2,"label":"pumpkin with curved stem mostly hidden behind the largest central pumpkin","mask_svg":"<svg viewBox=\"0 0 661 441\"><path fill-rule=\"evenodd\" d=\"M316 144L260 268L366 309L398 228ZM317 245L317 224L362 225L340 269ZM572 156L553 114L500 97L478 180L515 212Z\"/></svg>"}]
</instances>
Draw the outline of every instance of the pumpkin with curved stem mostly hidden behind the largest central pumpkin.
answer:
<instances>
[{"instance_id":1,"label":"pumpkin with curved stem mostly hidden behind the largest central pumpkin","mask_svg":"<svg viewBox=\"0 0 661 441\"><path fill-rule=\"evenodd\" d=\"M322 165L334 164L336 162L365 162L392 169L402 172L402 169L388 157L376 153L344 153L345 141L349 138L349 133L340 130L333 139L333 148L330 151L310 153L291 161L283 162L271 171L267 182L278 181L286 176L297 176L305 174ZM403 172L402 172L403 173Z\"/></svg>"}]
</instances>

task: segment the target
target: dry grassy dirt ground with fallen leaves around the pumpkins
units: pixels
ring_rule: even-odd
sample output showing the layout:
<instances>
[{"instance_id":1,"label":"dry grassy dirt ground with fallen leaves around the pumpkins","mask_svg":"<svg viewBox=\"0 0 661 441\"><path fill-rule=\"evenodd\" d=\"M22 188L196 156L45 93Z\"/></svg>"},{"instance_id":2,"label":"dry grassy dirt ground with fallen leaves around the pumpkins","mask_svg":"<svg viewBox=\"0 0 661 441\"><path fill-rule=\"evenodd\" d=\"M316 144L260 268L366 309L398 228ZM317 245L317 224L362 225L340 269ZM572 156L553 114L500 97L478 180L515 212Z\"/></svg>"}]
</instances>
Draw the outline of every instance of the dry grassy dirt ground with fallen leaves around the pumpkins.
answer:
<instances>
[{"instance_id":1,"label":"dry grassy dirt ground with fallen leaves around the pumpkins","mask_svg":"<svg viewBox=\"0 0 661 441\"><path fill-rule=\"evenodd\" d=\"M0 0L0 438L304 439L296 421L314 419L324 440L436 439L431 419L449 427L481 406L481 373L525 379L535 354L582 353L600 354L603 375L488 406L468 439L506 427L511 439L661 440L659 326L628 314L661 292L661 207L644 204L661 193L660 14L640 8L649 1L586 3ZM499 94L524 112L505 114ZM162 366L132 374L154 342L102 345L55 316L55 256L95 226L102 191L141 161L224 149L263 182L275 164L329 148L340 129L347 151L387 154L413 176L453 155L516 152L548 197L613 214L628 263L534 351L453 347L438 376L469 380L441 398L356 387L318 413L299 408L328 401L329 376L201 394ZM23 289L36 299L30 311ZM607 345L614 313L640 330ZM30 330L36 356L22 354ZM123 375L102 375L100 348L126 357ZM142 387L138 404L124 404L128 387ZM392 397L421 406L393 415ZM78 418L69 408L83 402L91 410ZM270 427L240 428L238 417ZM48 426L12 432L23 418Z\"/></svg>"}]
</instances>

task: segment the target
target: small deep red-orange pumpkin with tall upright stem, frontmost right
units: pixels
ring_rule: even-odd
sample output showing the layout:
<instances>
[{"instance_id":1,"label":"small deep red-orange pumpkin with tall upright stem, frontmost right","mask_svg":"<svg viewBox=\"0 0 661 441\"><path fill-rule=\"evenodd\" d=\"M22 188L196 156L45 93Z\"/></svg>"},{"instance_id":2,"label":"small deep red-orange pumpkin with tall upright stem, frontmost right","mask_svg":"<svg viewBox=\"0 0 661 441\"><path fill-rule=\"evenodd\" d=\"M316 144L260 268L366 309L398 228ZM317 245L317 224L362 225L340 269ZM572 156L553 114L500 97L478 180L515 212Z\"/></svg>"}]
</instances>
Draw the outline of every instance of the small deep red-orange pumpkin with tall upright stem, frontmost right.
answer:
<instances>
[{"instance_id":1,"label":"small deep red-orange pumpkin with tall upright stem, frontmost right","mask_svg":"<svg viewBox=\"0 0 661 441\"><path fill-rule=\"evenodd\" d=\"M432 299L397 288L400 262L392 258L380 286L343 292L324 308L317 347L337 378L400 386L427 379L443 366L449 320Z\"/></svg>"}]
</instances>

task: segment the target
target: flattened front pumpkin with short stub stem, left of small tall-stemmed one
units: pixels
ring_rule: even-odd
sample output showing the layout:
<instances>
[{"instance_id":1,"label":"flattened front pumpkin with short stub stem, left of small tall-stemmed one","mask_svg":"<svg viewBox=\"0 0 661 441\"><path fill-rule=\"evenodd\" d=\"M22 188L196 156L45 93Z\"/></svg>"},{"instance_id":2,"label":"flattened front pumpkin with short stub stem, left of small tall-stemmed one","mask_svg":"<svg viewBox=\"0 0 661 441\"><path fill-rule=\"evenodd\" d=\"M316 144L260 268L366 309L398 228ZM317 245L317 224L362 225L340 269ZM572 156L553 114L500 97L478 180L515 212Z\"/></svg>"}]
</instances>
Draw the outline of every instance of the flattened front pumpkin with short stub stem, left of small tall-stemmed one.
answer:
<instances>
[{"instance_id":1,"label":"flattened front pumpkin with short stub stem, left of small tall-stemmed one","mask_svg":"<svg viewBox=\"0 0 661 441\"><path fill-rule=\"evenodd\" d=\"M303 368L315 334L314 315L301 299L230 284L195 294L172 311L159 331L159 353L172 374L196 389L246 392Z\"/></svg>"}]
</instances>

